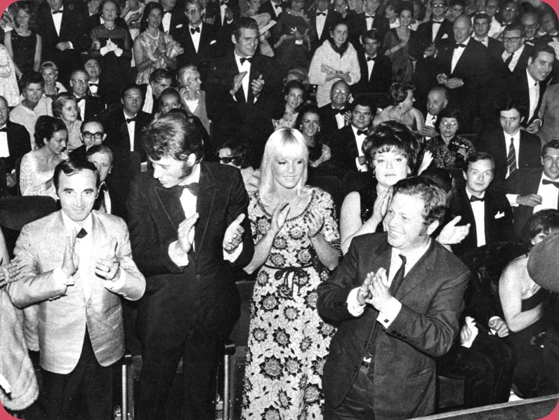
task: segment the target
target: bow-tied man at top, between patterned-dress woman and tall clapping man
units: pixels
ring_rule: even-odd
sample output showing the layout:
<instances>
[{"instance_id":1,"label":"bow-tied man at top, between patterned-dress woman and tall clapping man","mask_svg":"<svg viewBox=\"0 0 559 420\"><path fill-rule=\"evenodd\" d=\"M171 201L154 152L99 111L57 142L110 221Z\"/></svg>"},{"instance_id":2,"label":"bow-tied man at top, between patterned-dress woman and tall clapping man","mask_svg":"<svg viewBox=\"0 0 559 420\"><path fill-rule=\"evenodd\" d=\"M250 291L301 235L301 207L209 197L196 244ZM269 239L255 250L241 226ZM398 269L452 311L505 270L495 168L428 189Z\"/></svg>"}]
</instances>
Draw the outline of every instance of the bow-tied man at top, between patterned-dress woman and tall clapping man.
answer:
<instances>
[{"instance_id":1,"label":"bow-tied man at top, between patterned-dress woman and tall clapping man","mask_svg":"<svg viewBox=\"0 0 559 420\"><path fill-rule=\"evenodd\" d=\"M218 34L213 25L202 21L202 4L199 0L188 0L185 5L187 25L175 40L184 48L177 57L178 67L193 64L198 67L200 80L208 76L211 60L216 57Z\"/></svg>"}]
</instances>

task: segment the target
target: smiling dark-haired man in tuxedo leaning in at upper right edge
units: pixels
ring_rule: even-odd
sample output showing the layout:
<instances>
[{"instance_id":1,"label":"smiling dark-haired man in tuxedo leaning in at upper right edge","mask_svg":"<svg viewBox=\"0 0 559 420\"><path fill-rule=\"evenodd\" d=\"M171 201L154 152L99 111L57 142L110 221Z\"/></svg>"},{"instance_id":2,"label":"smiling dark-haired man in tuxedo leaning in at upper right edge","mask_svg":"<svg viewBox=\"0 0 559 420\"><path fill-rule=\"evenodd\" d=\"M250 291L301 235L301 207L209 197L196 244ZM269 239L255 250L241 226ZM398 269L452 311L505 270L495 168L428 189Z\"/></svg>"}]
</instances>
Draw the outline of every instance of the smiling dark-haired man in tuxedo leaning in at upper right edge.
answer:
<instances>
[{"instance_id":1,"label":"smiling dark-haired man in tuxedo leaning in at upper right edge","mask_svg":"<svg viewBox=\"0 0 559 420\"><path fill-rule=\"evenodd\" d=\"M551 46L534 47L532 55L528 58L526 71L511 74L507 86L504 87L505 93L527 109L522 128L525 128L528 133L537 134L541 127L538 111L546 90L544 81L553 70L553 62L555 62L555 50ZM514 88L511 89L511 86Z\"/></svg>"}]
</instances>

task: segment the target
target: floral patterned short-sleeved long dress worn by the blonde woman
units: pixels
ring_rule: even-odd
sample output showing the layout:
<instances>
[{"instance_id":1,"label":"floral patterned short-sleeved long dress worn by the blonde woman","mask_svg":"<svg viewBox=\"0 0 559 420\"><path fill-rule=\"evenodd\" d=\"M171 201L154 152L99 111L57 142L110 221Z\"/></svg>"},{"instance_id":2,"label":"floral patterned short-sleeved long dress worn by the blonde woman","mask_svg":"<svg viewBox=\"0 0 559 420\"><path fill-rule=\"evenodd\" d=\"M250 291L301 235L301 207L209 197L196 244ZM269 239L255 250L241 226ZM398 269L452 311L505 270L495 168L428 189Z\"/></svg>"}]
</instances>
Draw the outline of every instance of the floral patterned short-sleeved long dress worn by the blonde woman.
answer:
<instances>
[{"instance_id":1,"label":"floral patterned short-sleeved long dress worn by the blonde woman","mask_svg":"<svg viewBox=\"0 0 559 420\"><path fill-rule=\"evenodd\" d=\"M329 272L307 236L311 208L324 215L322 234L339 250L334 203L321 189L300 215L287 219L258 272L251 302L246 352L243 419L322 419L322 368L334 327L317 313L317 286ZM258 191L250 196L255 243L268 232L272 216Z\"/></svg>"}]
</instances>

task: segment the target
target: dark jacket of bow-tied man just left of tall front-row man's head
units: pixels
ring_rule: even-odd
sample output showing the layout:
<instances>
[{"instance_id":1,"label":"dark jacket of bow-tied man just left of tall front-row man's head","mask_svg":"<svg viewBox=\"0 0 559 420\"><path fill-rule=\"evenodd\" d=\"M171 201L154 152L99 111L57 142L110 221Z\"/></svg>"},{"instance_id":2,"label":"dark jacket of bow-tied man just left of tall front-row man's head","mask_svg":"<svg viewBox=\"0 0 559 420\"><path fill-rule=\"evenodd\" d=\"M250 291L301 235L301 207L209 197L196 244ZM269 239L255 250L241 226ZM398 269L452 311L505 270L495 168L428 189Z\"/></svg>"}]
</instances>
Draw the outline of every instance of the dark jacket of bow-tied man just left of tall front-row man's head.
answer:
<instances>
[{"instance_id":1,"label":"dark jacket of bow-tied man just left of tall front-row man's head","mask_svg":"<svg viewBox=\"0 0 559 420\"><path fill-rule=\"evenodd\" d=\"M142 130L151 123L153 117L147 112L138 111L136 114L136 127L134 128L134 139L133 139L133 149L140 154L142 162L147 161L147 155L142 147ZM130 135L128 133L128 128L126 126L126 118L124 116L124 111L122 108L115 109L111 114L107 116L107 122L105 124L105 133L107 133L107 140L105 143L111 149L115 149L117 152L130 150Z\"/></svg>"}]
</instances>

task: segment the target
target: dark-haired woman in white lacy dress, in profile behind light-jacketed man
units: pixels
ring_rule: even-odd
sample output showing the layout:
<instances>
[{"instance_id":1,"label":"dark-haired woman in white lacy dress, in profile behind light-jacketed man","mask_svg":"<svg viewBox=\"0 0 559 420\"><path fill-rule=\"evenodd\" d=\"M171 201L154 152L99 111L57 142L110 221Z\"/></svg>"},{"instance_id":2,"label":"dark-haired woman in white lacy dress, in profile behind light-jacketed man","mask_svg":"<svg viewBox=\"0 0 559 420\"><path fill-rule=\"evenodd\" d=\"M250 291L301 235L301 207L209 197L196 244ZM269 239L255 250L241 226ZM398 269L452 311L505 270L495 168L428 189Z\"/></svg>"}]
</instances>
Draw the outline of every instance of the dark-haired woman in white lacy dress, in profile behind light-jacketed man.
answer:
<instances>
[{"instance_id":1,"label":"dark-haired woman in white lacy dress, in profile behind light-jacketed man","mask_svg":"<svg viewBox=\"0 0 559 420\"><path fill-rule=\"evenodd\" d=\"M23 155L20 166L22 196L51 196L58 199L53 183L54 168L67 159L68 132L64 121L39 116L35 123L37 149Z\"/></svg>"}]
</instances>

